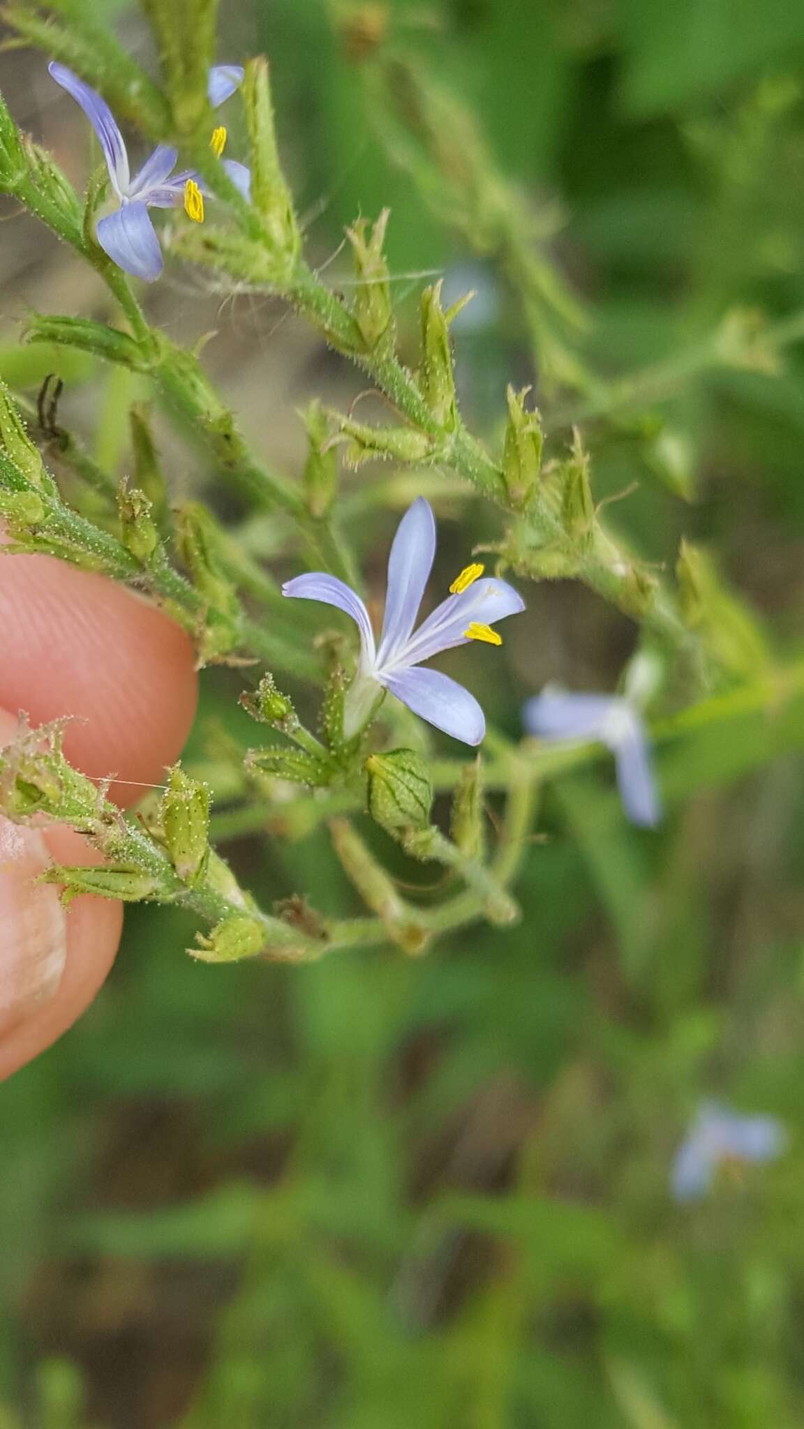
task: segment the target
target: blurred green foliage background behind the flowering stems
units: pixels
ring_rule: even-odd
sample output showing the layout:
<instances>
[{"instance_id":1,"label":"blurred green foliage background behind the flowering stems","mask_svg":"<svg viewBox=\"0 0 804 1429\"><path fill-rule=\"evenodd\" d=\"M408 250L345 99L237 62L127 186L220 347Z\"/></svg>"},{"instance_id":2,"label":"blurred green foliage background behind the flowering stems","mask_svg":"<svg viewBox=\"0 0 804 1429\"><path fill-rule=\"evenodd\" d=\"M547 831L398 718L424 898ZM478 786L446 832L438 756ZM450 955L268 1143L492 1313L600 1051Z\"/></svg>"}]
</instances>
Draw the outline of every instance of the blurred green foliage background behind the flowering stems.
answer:
<instances>
[{"instance_id":1,"label":"blurred green foliage background behind the flowering stems","mask_svg":"<svg viewBox=\"0 0 804 1429\"><path fill-rule=\"evenodd\" d=\"M638 482L619 530L660 563L681 532L710 542L800 657L804 353L675 366L730 313L804 306L801 0L355 10L348 41L319 0L223 14L222 59L272 59L316 260L389 204L411 332L422 272L479 287L458 367L469 423L495 434L506 380L534 379L521 306L389 153L365 83L379 27L474 107L545 223L561 214L549 247L587 304L587 359L607 376L670 363L629 414L584 429L595 494ZM136 17L114 21L142 50ZM9 101L67 167L74 147L74 173L86 134L41 73L40 56L0 60ZM14 322L76 274L33 220L6 223L3 246L0 369L24 386ZM173 272L153 306L173 333L217 329L210 366L290 469L293 407L356 390L265 299ZM109 437L107 379L76 373L64 400L92 432L99 393ZM476 502L465 514L452 573L495 529ZM376 574L392 527L361 529ZM526 593L482 690L512 735L545 679L612 689L635 639L575 584ZM247 743L239 687L205 676L197 756L223 726ZM622 820L608 763L555 783L521 925L422 962L206 967L183 953L192 923L134 909L96 1006L0 1095L1 1429L798 1429L803 742L748 713L662 749L654 836ZM255 887L350 906L323 836L230 853ZM780 1116L791 1150L680 1208L670 1159L708 1093Z\"/></svg>"}]
</instances>

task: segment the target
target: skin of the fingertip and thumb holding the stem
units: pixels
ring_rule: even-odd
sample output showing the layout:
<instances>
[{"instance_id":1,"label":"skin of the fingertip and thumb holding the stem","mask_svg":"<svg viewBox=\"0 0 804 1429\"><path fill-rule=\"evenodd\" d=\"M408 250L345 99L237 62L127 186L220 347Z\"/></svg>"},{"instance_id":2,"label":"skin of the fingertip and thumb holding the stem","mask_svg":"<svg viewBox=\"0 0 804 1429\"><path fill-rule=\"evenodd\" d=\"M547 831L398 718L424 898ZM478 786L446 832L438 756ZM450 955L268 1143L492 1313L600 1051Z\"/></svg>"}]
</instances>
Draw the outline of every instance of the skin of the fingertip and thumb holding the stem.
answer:
<instances>
[{"instance_id":1,"label":"skin of the fingertip and thumb holding the stem","mask_svg":"<svg viewBox=\"0 0 804 1429\"><path fill-rule=\"evenodd\" d=\"M190 730L197 679L190 639L143 597L50 556L0 559L0 746L19 727L72 716L67 759L113 773L110 795L136 803ZM72 829L20 827L0 816L0 1079L50 1046L102 986L120 939L122 905L37 883L50 863L99 863Z\"/></svg>"}]
</instances>

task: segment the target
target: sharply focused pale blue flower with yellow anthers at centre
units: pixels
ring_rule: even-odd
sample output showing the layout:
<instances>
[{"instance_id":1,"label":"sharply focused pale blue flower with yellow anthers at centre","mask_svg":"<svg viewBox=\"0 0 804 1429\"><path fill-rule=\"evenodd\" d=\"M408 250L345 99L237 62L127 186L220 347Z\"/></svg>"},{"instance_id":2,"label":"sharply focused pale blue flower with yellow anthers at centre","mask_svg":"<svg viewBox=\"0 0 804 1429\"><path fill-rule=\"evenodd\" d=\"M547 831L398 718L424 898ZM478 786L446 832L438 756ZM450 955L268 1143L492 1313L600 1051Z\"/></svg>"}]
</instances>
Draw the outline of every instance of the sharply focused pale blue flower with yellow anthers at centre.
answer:
<instances>
[{"instance_id":1,"label":"sharply focused pale blue flower with yellow anthers at centre","mask_svg":"<svg viewBox=\"0 0 804 1429\"><path fill-rule=\"evenodd\" d=\"M282 587L285 596L338 606L361 632L361 662L346 699L348 737L362 727L382 690L391 690L415 714L465 745L479 745L485 735L484 712L474 694L446 674L419 666L469 640L502 644L492 624L524 610L525 602L504 580L481 580L481 564L466 566L452 582L446 600L413 630L433 559L435 519L419 496L402 517L391 547L379 647L363 602L336 576L316 572L296 576Z\"/></svg>"}]
</instances>

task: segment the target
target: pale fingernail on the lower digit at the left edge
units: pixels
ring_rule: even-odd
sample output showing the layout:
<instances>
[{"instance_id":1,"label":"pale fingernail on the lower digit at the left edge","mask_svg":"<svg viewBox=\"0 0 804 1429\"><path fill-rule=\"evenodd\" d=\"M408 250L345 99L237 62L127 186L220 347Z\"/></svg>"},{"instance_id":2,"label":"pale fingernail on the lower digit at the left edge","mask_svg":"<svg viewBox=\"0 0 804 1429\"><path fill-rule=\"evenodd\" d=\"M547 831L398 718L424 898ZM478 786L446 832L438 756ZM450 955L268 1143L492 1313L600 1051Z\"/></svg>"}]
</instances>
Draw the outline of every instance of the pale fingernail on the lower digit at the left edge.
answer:
<instances>
[{"instance_id":1,"label":"pale fingernail on the lower digit at the left edge","mask_svg":"<svg viewBox=\"0 0 804 1429\"><path fill-rule=\"evenodd\" d=\"M36 829L0 816L0 1030L53 996L67 955L67 919L57 889L37 883L52 865Z\"/></svg>"}]
</instances>

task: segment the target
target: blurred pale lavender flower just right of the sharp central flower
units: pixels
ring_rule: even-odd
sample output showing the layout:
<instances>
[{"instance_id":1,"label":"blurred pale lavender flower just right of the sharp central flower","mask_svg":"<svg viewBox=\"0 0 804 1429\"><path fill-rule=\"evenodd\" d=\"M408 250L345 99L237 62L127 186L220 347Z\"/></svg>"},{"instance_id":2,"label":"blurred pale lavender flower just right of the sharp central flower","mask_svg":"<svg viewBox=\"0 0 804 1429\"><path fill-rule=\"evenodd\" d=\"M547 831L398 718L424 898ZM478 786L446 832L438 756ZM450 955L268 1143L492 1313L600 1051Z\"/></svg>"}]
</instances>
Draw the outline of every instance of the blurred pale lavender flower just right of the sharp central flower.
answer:
<instances>
[{"instance_id":1,"label":"blurred pale lavender flower just right of the sharp central flower","mask_svg":"<svg viewBox=\"0 0 804 1429\"><path fill-rule=\"evenodd\" d=\"M522 710L525 729L548 740L598 739L617 762L622 807L632 823L654 829L661 803L645 726L637 706L617 694L569 694L546 687Z\"/></svg>"}]
</instances>

